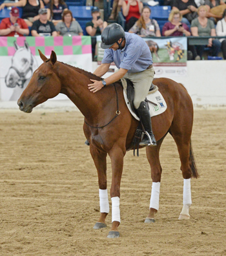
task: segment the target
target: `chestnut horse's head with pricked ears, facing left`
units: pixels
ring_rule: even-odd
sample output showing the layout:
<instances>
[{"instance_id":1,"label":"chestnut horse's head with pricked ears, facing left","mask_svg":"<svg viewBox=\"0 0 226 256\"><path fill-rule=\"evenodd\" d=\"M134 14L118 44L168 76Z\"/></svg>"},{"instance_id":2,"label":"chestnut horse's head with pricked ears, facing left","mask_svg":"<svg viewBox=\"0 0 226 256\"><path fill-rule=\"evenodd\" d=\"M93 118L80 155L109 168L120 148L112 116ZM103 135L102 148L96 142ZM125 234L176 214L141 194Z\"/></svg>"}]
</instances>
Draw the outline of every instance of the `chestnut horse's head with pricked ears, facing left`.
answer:
<instances>
[{"instance_id":1,"label":"chestnut horse's head with pricked ears, facing left","mask_svg":"<svg viewBox=\"0 0 226 256\"><path fill-rule=\"evenodd\" d=\"M32 112L34 107L50 98L54 98L61 91L61 81L54 72L59 68L56 63L56 53L52 51L50 59L47 59L40 50L39 55L43 64L34 72L30 83L17 101L19 109L26 113Z\"/></svg>"}]
</instances>

